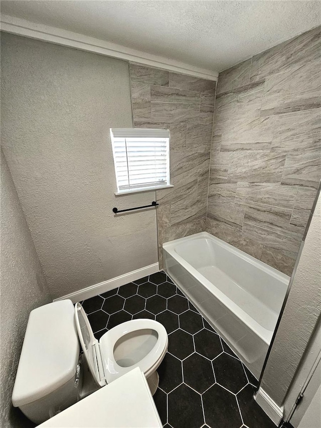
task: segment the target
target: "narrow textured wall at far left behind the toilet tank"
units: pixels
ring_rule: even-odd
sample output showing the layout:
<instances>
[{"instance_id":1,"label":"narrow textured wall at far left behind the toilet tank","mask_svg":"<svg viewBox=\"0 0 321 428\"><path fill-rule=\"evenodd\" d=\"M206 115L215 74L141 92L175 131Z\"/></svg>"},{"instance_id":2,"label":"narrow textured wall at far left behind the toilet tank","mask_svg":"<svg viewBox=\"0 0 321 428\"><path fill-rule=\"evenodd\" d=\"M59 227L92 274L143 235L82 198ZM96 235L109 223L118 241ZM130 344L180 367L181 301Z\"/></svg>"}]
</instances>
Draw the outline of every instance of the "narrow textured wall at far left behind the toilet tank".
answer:
<instances>
[{"instance_id":1,"label":"narrow textured wall at far left behind the toilet tank","mask_svg":"<svg viewBox=\"0 0 321 428\"><path fill-rule=\"evenodd\" d=\"M51 302L8 165L1 152L1 423L26 427L11 394L30 311Z\"/></svg>"}]
</instances>

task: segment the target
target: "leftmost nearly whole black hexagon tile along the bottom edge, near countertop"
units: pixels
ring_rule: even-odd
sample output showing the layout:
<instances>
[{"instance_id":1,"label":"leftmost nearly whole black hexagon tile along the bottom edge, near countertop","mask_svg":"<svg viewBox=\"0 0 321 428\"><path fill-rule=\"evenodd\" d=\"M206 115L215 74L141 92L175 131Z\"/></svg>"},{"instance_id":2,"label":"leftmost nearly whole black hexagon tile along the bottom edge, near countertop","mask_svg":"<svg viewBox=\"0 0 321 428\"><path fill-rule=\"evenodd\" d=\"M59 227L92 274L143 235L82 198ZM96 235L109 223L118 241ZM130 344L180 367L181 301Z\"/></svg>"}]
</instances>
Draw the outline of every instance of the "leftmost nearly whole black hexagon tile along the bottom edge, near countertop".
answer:
<instances>
[{"instance_id":1,"label":"leftmost nearly whole black hexagon tile along the bottom edge, near countertop","mask_svg":"<svg viewBox=\"0 0 321 428\"><path fill-rule=\"evenodd\" d=\"M169 424L173 428L197 428L204 424L201 395L185 384L168 396Z\"/></svg>"}]
</instances>

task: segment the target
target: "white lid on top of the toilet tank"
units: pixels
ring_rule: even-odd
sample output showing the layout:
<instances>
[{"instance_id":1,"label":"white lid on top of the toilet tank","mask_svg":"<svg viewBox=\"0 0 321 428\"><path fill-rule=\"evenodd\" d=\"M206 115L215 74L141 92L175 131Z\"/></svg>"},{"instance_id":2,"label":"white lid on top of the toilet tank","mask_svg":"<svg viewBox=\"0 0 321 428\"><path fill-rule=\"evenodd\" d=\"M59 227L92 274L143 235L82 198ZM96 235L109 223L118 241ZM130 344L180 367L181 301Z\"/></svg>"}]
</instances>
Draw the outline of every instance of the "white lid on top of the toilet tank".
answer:
<instances>
[{"instance_id":1,"label":"white lid on top of the toilet tank","mask_svg":"<svg viewBox=\"0 0 321 428\"><path fill-rule=\"evenodd\" d=\"M34 309L29 315L12 402L21 407L50 394L74 377L79 340L71 300Z\"/></svg>"}]
</instances>

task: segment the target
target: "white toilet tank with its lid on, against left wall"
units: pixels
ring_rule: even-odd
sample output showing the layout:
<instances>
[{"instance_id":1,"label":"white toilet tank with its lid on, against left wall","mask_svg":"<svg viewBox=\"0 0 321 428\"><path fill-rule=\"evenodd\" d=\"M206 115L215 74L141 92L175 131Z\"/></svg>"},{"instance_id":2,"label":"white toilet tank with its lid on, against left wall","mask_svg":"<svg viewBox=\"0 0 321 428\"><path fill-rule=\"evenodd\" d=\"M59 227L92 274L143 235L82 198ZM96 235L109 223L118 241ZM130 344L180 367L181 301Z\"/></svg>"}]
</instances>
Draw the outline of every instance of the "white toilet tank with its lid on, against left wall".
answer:
<instances>
[{"instance_id":1,"label":"white toilet tank with its lid on, against left wall","mask_svg":"<svg viewBox=\"0 0 321 428\"><path fill-rule=\"evenodd\" d=\"M12 402L41 423L80 398L79 340L71 300L34 309L29 315Z\"/></svg>"}]
</instances>

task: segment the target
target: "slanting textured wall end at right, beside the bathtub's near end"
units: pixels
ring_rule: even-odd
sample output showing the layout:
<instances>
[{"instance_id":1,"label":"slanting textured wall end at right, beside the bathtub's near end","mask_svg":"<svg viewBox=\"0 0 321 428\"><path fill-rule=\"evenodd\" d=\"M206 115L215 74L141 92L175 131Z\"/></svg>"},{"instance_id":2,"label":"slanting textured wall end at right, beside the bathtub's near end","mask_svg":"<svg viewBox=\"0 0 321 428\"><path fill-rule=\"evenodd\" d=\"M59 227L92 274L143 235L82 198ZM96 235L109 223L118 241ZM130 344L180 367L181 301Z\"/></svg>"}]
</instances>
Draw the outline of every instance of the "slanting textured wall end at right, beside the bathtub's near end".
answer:
<instances>
[{"instance_id":1,"label":"slanting textured wall end at right, beside the bathtub's near end","mask_svg":"<svg viewBox=\"0 0 321 428\"><path fill-rule=\"evenodd\" d=\"M261 387L281 405L321 310L321 197L305 238Z\"/></svg>"}]
</instances>

